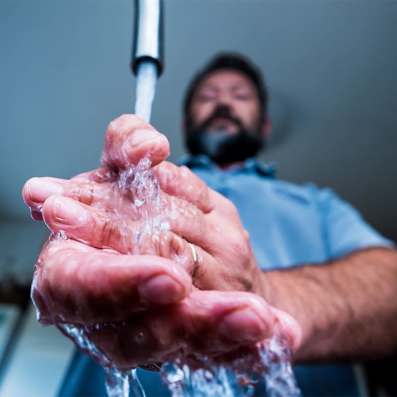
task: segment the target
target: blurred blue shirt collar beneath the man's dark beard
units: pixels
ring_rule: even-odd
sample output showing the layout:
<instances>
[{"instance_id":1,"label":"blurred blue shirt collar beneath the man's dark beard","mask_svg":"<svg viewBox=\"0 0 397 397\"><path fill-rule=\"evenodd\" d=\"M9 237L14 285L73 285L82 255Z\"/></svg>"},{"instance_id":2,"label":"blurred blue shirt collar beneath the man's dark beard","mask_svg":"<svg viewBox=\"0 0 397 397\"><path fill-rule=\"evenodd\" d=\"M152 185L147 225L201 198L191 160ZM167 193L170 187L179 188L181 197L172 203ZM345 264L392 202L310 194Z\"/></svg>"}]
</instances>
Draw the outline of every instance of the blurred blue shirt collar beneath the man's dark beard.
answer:
<instances>
[{"instance_id":1,"label":"blurred blue shirt collar beneath the man's dark beard","mask_svg":"<svg viewBox=\"0 0 397 397\"><path fill-rule=\"evenodd\" d=\"M207 169L218 169L215 164L206 154L185 154L178 165L185 165L189 168L207 168ZM253 171L260 175L269 178L275 178L277 172L277 164L274 162L264 163L255 157L249 157L244 161L244 164L239 169L233 169L233 171Z\"/></svg>"}]
</instances>

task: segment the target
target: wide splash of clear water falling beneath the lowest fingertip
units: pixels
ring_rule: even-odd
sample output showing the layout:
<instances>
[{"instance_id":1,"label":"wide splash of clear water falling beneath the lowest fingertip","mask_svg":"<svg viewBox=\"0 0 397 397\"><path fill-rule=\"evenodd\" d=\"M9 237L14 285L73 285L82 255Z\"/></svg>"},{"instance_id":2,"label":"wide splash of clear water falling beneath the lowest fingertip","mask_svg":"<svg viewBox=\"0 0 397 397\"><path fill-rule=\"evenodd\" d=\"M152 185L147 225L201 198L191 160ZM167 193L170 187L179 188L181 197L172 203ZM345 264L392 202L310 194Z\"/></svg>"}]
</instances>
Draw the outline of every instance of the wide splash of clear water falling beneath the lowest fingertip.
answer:
<instances>
[{"instance_id":1,"label":"wide splash of clear water falling beneath the lowest fingertip","mask_svg":"<svg viewBox=\"0 0 397 397\"><path fill-rule=\"evenodd\" d=\"M278 337L225 356L181 357L165 363L161 377L172 397L249 397L260 381L268 397L299 397L291 351Z\"/></svg>"}]
</instances>

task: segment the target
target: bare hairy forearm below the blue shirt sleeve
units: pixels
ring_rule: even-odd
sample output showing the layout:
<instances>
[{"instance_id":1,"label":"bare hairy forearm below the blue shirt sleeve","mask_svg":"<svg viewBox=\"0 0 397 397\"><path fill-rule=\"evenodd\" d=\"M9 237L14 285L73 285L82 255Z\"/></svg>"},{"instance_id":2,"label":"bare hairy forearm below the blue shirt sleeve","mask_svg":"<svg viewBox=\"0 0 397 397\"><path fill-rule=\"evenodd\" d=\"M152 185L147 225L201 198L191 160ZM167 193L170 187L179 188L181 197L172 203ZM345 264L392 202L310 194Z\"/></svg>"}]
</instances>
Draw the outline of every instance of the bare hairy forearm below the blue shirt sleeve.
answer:
<instances>
[{"instance_id":1,"label":"bare hairy forearm below the blue shirt sleeve","mask_svg":"<svg viewBox=\"0 0 397 397\"><path fill-rule=\"evenodd\" d=\"M397 252L356 251L324 265L264 273L266 300L303 330L298 362L371 358L397 350Z\"/></svg>"}]
</instances>

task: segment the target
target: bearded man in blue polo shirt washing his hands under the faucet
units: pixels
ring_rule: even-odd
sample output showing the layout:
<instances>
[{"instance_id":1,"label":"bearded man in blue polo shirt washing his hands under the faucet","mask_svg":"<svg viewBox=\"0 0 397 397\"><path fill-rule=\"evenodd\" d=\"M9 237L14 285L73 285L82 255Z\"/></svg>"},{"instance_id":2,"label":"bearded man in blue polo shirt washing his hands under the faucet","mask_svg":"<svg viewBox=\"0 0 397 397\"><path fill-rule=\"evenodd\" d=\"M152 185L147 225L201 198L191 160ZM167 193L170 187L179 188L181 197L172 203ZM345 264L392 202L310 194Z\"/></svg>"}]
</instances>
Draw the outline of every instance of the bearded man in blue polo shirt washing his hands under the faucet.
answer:
<instances>
[{"instance_id":1,"label":"bearded man in blue polo shirt washing his hands under the faucet","mask_svg":"<svg viewBox=\"0 0 397 397\"><path fill-rule=\"evenodd\" d=\"M184 331L200 339L204 353L214 353L214 344L228 351L274 333L290 340L296 364L356 360L396 350L397 254L392 243L331 191L278 181L272 167L253 158L270 132L266 105L260 74L241 57L222 55L193 80L184 111L186 141L194 156L184 163L212 190L185 168L163 162L168 142L132 116L110 124L105 168L70 182L29 181L26 203L33 211L43 206L50 229L72 239L48 244L39 257L32 296L41 321L90 326L118 324L132 316L133 322L127 322L130 336L140 327L155 346L147 342L137 347L117 329L112 337L124 343L127 353L122 357L106 344L108 330L90 329L102 350L126 368L132 360L128 351L135 355L135 364L149 356L165 357L165 345L176 351L183 338L178 326L166 319L184 322L199 311L201 302L220 296L225 306L212 304L201 318L203 324L183 323ZM139 252L150 257L134 257L126 254L136 243L130 230L139 227L136 219L129 220L128 199L121 197L121 216L115 218L109 215L112 203L107 197L114 193L111 173L136 164L147 151L170 231L160 233L158 244L153 239L139 243ZM214 191L230 199L238 213ZM176 253L184 258L185 273L171 263ZM153 281L159 272L164 277ZM94 276L106 282L88 285ZM165 281L165 276L173 278ZM121 288L126 279L131 284ZM155 295L159 288L164 292ZM233 306L237 300L240 306ZM239 311L241 306L244 310ZM222 310L233 316L220 316ZM220 319L219 329L213 318ZM204 326L210 333L202 335ZM149 350L151 355L146 354ZM348 365L297 365L295 372L304 395L358 393ZM89 395L87 389L77 393Z\"/></svg>"}]
</instances>

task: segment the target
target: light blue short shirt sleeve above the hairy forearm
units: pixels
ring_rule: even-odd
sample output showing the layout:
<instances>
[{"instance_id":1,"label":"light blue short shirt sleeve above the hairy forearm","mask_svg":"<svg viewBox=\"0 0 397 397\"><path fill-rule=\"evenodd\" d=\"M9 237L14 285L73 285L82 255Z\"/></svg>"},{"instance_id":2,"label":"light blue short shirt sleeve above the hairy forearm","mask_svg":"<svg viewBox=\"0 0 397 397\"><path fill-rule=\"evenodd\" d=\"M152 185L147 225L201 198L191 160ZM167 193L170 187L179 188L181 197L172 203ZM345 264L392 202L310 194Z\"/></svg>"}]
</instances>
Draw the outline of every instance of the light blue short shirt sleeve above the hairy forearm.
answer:
<instances>
[{"instance_id":1,"label":"light blue short shirt sleeve above the hairy forearm","mask_svg":"<svg viewBox=\"0 0 397 397\"><path fill-rule=\"evenodd\" d=\"M331 189L318 192L324 238L331 258L362 248L395 247L392 241L383 237L352 205L340 199Z\"/></svg>"}]
</instances>

